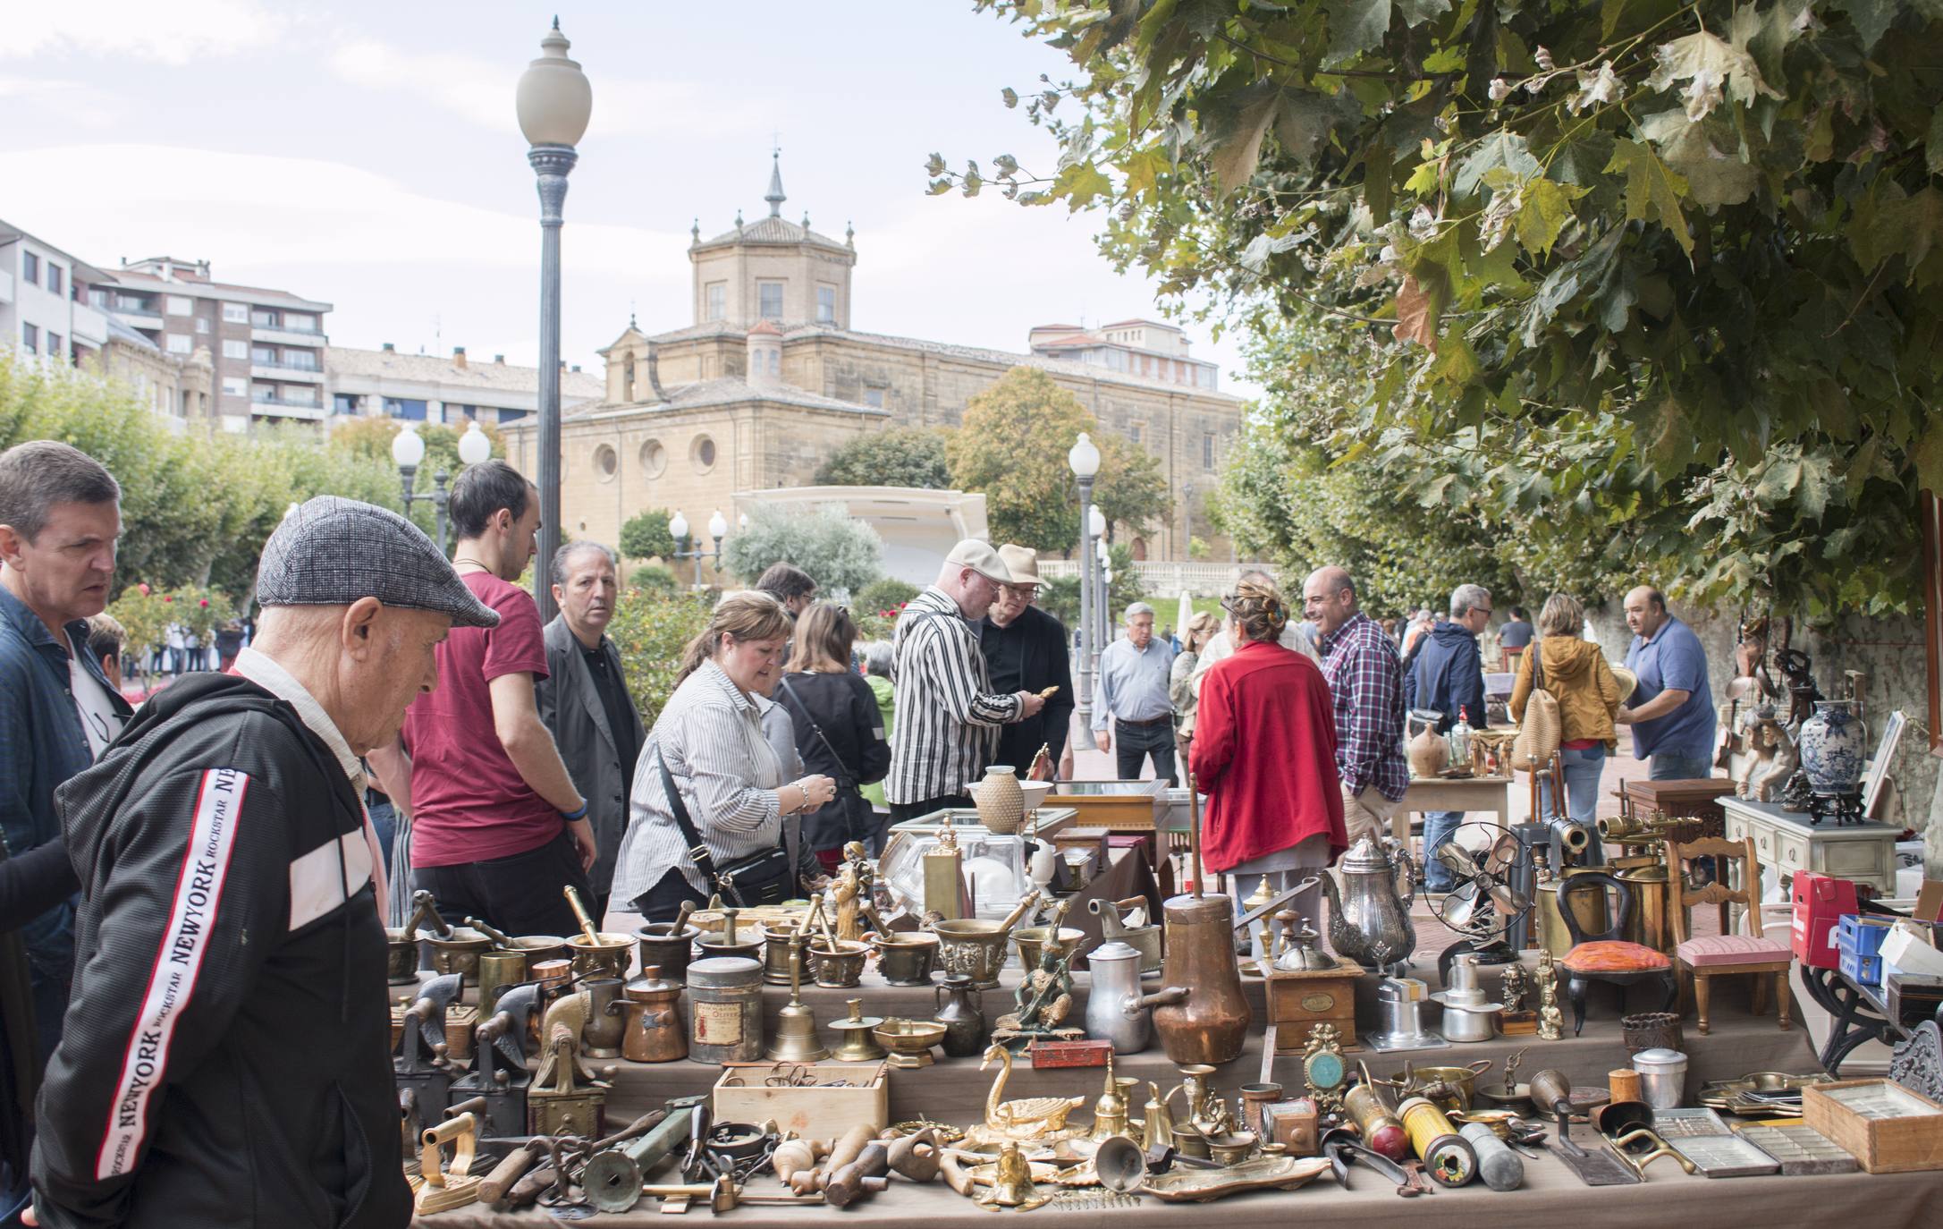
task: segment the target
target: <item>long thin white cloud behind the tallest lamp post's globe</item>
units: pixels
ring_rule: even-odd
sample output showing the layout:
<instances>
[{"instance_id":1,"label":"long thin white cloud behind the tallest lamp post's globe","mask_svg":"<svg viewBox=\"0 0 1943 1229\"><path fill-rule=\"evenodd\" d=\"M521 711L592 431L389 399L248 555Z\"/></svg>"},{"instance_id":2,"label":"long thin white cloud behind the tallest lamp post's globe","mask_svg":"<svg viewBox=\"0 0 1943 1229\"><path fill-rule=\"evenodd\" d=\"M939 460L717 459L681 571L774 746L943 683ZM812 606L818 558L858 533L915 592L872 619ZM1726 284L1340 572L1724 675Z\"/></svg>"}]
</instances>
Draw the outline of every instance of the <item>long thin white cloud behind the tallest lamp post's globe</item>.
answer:
<instances>
[{"instance_id":1,"label":"long thin white cloud behind the tallest lamp post's globe","mask_svg":"<svg viewBox=\"0 0 1943 1229\"><path fill-rule=\"evenodd\" d=\"M517 123L513 89L527 64L350 39L330 53L330 70L352 86L410 93L474 124L507 130ZM705 88L690 82L610 78L598 70L589 76L595 88L593 138L676 130L707 136L760 126L754 103L731 99L698 109L694 99Z\"/></svg>"}]
</instances>

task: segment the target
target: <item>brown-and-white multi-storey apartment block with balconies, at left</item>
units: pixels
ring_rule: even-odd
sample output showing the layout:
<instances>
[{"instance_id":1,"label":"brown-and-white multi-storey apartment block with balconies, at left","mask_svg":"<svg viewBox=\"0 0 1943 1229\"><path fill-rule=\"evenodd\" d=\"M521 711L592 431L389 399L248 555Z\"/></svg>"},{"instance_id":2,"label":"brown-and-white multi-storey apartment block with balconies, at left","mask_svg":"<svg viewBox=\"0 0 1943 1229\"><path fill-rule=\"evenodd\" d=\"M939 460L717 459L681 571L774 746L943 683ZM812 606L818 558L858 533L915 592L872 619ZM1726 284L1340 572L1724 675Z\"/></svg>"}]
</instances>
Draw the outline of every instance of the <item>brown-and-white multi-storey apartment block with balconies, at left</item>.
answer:
<instances>
[{"instance_id":1,"label":"brown-and-white multi-storey apartment block with balconies, at left","mask_svg":"<svg viewBox=\"0 0 1943 1229\"><path fill-rule=\"evenodd\" d=\"M324 315L330 303L286 290L210 276L208 261L122 261L93 303L115 313L163 354L188 358L208 346L216 369L214 412L223 430L253 422L323 422Z\"/></svg>"}]
</instances>

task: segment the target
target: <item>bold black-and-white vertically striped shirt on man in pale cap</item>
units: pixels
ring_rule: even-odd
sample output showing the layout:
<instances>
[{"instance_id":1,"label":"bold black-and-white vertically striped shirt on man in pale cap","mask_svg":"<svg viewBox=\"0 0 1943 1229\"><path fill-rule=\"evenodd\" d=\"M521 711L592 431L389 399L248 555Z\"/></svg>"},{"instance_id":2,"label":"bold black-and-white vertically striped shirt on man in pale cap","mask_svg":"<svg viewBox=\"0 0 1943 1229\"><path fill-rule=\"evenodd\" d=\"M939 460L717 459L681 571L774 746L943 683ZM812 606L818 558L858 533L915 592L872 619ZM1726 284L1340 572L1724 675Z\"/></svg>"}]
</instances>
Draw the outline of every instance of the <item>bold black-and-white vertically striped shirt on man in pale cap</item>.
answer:
<instances>
[{"instance_id":1,"label":"bold black-and-white vertically striped shirt on man in pale cap","mask_svg":"<svg viewBox=\"0 0 1943 1229\"><path fill-rule=\"evenodd\" d=\"M977 632L938 587L903 607L892 638L896 721L884 799L919 803L964 793L991 762L999 727L1016 721L1016 694L993 694Z\"/></svg>"}]
</instances>

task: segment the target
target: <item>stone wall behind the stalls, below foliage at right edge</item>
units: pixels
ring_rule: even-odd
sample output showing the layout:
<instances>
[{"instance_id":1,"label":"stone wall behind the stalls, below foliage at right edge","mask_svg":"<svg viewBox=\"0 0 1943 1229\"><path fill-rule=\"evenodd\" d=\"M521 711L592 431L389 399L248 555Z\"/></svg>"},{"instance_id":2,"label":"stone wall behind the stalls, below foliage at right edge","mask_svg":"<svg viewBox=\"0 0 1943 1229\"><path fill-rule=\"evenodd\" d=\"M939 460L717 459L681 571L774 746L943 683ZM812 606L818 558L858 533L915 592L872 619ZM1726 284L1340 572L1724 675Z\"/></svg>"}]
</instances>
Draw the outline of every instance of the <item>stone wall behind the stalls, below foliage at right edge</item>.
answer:
<instances>
[{"instance_id":1,"label":"stone wall behind the stalls, below foliage at right edge","mask_svg":"<svg viewBox=\"0 0 1943 1229\"><path fill-rule=\"evenodd\" d=\"M1700 636L1708 655L1708 685L1714 688L1714 702L1721 704L1727 681L1733 677L1737 616L1698 611L1683 603L1673 603L1673 613ZM1619 601L1587 614L1607 657L1622 661L1632 632L1626 630L1626 614ZM1824 696L1834 698L1846 692L1844 671L1869 675L1863 696L1869 755L1875 755L1875 743L1881 739L1889 714L1902 710L1908 725L1896 747L1891 786L1877 805L1877 819L1922 832L1929 875L1943 875L1943 780L1939 780L1943 758L1929 755L1929 737L1924 733L1924 725L1929 721L1929 704L1926 698L1927 663L1924 659L1922 616L1867 618L1852 614L1834 624L1813 628L1797 622L1793 648L1813 657L1815 683ZM1620 731L1620 737L1624 739L1626 733Z\"/></svg>"}]
</instances>

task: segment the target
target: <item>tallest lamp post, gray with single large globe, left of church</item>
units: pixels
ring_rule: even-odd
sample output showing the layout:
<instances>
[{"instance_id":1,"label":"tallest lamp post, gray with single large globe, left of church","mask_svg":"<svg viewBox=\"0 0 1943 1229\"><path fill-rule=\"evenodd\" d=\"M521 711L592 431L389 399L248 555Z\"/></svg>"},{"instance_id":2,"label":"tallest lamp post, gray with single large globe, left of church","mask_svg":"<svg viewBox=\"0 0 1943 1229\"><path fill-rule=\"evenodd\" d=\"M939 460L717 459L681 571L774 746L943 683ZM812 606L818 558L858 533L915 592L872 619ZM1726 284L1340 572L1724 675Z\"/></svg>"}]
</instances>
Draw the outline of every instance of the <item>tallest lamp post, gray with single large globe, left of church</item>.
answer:
<instances>
[{"instance_id":1,"label":"tallest lamp post, gray with single large globe, left of church","mask_svg":"<svg viewBox=\"0 0 1943 1229\"><path fill-rule=\"evenodd\" d=\"M560 210L567 173L579 161L575 144L595 109L593 86L567 58L567 37L554 29L540 39L540 58L519 78L515 109L527 161L540 179L540 552L532 560L532 601L540 622L554 616L554 552L560 550Z\"/></svg>"}]
</instances>

